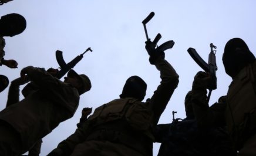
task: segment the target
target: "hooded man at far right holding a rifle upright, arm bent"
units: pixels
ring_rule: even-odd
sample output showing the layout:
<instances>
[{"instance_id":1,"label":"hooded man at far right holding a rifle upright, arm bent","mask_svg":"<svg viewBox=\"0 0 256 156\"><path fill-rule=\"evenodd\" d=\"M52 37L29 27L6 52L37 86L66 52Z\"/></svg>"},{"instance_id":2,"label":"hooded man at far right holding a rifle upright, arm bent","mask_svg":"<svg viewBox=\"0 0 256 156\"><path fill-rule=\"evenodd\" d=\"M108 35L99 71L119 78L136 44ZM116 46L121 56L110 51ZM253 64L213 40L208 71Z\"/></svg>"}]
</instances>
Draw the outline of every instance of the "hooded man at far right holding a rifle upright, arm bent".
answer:
<instances>
[{"instance_id":1,"label":"hooded man at far right holding a rifle upright, arm bent","mask_svg":"<svg viewBox=\"0 0 256 156\"><path fill-rule=\"evenodd\" d=\"M198 72L193 82L193 108L198 124L226 124L238 155L256 155L256 61L244 40L229 40L223 53L225 72L232 77L227 96L227 104L206 103L208 73Z\"/></svg>"}]
</instances>

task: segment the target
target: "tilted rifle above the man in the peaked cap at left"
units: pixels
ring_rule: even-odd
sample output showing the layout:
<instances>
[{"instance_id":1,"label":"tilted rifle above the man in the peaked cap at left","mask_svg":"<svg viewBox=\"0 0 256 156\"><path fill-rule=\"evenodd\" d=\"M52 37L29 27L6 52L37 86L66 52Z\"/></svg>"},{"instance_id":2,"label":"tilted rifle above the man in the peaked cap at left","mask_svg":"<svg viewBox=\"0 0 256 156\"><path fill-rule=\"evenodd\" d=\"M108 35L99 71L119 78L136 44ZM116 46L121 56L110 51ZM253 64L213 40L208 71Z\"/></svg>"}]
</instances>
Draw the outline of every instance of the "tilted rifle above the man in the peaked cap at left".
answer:
<instances>
[{"instance_id":1,"label":"tilted rifle above the man in the peaked cap at left","mask_svg":"<svg viewBox=\"0 0 256 156\"><path fill-rule=\"evenodd\" d=\"M65 62L65 60L63 59L62 56L62 51L57 50L56 51L56 60L60 66L60 71L56 74L55 77L57 77L58 79L60 79L61 77L63 77L66 73L69 72L70 69L72 69L73 67L75 67L75 65L82 60L83 55L87 52L90 51L92 52L92 49L87 48L85 50L85 52L83 52L82 54L78 55L75 57L75 59L73 59L72 61L70 61L68 64Z\"/></svg>"}]
</instances>

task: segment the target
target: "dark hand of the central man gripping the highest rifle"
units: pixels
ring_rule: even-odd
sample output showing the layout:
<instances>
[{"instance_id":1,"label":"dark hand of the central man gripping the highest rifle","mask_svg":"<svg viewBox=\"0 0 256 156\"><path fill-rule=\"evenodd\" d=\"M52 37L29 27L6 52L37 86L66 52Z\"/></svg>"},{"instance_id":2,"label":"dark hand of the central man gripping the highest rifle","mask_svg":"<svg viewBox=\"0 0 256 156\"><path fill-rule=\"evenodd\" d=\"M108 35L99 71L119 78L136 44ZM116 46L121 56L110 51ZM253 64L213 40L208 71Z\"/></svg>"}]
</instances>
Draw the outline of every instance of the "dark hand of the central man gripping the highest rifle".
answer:
<instances>
[{"instance_id":1,"label":"dark hand of the central man gripping the highest rifle","mask_svg":"<svg viewBox=\"0 0 256 156\"><path fill-rule=\"evenodd\" d=\"M161 50L158 50L156 48L156 44L154 44L153 42L151 42L150 40L147 40L146 42L146 50L147 50L147 53L149 53L149 62L151 65L155 65L156 63L156 60L159 59L159 58L162 58L164 59L164 52L161 51Z\"/></svg>"}]
</instances>

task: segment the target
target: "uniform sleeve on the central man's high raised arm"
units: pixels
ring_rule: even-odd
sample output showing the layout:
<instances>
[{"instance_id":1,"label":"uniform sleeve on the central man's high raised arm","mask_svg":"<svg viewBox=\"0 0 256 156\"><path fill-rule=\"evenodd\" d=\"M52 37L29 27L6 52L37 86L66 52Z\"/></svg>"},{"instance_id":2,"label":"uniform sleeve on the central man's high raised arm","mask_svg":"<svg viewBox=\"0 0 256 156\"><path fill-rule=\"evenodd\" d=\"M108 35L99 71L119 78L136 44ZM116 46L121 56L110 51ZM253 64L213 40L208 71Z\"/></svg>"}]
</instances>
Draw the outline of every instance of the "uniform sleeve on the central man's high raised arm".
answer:
<instances>
[{"instance_id":1,"label":"uniform sleeve on the central man's high raised arm","mask_svg":"<svg viewBox=\"0 0 256 156\"><path fill-rule=\"evenodd\" d=\"M156 68L160 71L161 82L154 91L151 100L149 101L152 110L154 111L153 125L159 121L161 114L169 102L171 95L178 86L178 74L166 60L159 58L156 60Z\"/></svg>"}]
</instances>

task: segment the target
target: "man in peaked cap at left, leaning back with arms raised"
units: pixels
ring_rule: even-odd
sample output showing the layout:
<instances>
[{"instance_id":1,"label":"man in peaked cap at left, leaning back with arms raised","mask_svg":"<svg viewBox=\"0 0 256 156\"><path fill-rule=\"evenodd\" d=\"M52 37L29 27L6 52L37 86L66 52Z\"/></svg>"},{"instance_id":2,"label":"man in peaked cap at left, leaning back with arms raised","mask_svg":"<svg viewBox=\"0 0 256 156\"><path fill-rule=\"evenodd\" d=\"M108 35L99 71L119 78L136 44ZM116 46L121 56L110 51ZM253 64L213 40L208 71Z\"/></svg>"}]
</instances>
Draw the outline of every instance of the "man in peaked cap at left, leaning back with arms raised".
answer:
<instances>
[{"instance_id":1,"label":"man in peaked cap at left, leaning back with arms raised","mask_svg":"<svg viewBox=\"0 0 256 156\"><path fill-rule=\"evenodd\" d=\"M28 151L75 114L79 95L91 87L89 78L74 70L68 72L64 82L32 66L22 69L21 77L35 83L38 90L0 111L0 155L21 155Z\"/></svg>"}]
</instances>

